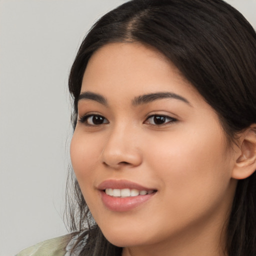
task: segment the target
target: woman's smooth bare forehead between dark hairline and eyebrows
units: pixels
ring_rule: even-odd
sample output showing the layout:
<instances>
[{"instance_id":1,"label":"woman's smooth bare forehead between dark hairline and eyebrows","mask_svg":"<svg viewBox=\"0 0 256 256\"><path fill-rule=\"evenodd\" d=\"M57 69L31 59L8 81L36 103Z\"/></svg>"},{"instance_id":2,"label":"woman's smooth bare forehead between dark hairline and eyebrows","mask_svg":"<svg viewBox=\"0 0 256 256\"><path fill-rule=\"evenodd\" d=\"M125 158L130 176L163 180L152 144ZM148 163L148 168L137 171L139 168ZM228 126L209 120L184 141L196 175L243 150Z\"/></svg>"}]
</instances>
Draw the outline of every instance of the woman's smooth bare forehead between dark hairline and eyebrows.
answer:
<instances>
[{"instance_id":1,"label":"woman's smooth bare forehead between dark hairline and eyebrows","mask_svg":"<svg viewBox=\"0 0 256 256\"><path fill-rule=\"evenodd\" d=\"M109 43L94 52L82 80L81 92L87 90L115 98L156 91L200 97L169 59L139 42Z\"/></svg>"}]
</instances>

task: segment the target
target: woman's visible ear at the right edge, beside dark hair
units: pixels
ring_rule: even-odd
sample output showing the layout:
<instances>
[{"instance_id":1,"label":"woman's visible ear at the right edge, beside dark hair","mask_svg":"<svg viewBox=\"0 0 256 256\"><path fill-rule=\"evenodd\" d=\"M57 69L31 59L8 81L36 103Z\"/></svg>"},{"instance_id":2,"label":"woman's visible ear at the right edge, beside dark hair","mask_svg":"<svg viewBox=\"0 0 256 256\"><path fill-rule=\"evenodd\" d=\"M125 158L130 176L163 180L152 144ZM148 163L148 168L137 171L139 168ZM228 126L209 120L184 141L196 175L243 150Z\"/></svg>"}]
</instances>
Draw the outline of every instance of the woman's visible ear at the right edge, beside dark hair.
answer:
<instances>
[{"instance_id":1,"label":"woman's visible ear at the right edge, beside dark hair","mask_svg":"<svg viewBox=\"0 0 256 256\"><path fill-rule=\"evenodd\" d=\"M239 133L238 157L232 170L232 177L243 179L256 170L256 124Z\"/></svg>"}]
</instances>

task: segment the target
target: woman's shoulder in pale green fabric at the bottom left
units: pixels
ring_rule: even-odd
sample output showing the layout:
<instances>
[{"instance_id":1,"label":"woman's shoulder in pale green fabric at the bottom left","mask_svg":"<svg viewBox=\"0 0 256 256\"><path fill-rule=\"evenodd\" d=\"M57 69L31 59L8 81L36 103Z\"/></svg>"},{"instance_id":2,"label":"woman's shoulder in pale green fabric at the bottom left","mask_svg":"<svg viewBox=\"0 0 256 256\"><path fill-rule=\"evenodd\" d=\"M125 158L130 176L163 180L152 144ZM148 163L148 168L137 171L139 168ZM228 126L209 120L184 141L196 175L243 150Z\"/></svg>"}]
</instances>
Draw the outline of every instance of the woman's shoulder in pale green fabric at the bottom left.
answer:
<instances>
[{"instance_id":1,"label":"woman's shoulder in pale green fabric at the bottom left","mask_svg":"<svg viewBox=\"0 0 256 256\"><path fill-rule=\"evenodd\" d=\"M20 251L16 256L64 256L71 237L71 234L67 234L39 242Z\"/></svg>"}]
</instances>

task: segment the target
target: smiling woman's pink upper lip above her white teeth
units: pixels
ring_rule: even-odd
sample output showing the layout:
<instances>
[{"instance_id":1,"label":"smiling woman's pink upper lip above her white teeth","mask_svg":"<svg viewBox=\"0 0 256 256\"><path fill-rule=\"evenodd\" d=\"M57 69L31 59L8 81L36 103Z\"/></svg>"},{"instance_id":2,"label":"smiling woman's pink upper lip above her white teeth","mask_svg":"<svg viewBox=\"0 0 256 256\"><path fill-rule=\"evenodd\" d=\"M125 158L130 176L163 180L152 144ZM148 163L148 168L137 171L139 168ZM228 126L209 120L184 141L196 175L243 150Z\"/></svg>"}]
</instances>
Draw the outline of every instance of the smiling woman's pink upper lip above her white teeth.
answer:
<instances>
[{"instance_id":1,"label":"smiling woman's pink upper lip above her white teeth","mask_svg":"<svg viewBox=\"0 0 256 256\"><path fill-rule=\"evenodd\" d=\"M116 189L123 189L123 188L130 188L130 189L137 189L137 190L156 190L155 188L145 187L143 185L137 184L135 182L126 180L126 179L107 179L101 182L98 186L98 190L105 190L106 188L116 188Z\"/></svg>"}]
</instances>

